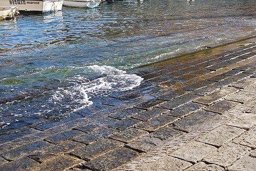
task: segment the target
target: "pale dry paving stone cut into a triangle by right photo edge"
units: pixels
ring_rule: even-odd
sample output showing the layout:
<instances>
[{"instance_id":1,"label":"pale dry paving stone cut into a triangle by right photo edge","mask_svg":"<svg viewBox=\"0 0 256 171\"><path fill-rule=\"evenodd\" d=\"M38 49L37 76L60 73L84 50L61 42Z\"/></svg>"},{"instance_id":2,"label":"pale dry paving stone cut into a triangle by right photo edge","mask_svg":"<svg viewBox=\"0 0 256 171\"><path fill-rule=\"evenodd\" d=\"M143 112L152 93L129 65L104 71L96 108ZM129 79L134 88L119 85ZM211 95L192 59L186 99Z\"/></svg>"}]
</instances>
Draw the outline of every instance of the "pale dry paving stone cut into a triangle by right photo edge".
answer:
<instances>
[{"instance_id":1,"label":"pale dry paving stone cut into a triangle by right photo edge","mask_svg":"<svg viewBox=\"0 0 256 171\"><path fill-rule=\"evenodd\" d=\"M234 143L250 146L250 148L256 148L256 127L246 131L241 136L233 140Z\"/></svg>"}]
</instances>

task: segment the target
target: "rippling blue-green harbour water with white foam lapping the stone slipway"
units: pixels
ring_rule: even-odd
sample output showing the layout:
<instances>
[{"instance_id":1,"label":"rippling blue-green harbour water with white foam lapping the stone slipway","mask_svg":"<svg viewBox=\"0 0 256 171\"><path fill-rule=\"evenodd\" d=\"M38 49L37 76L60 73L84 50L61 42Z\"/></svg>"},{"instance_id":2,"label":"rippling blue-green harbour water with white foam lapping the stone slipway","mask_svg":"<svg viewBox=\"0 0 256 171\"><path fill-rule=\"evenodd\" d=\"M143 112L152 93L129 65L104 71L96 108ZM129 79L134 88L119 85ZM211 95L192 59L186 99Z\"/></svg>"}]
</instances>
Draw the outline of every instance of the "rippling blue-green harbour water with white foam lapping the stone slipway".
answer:
<instances>
[{"instance_id":1,"label":"rippling blue-green harbour water with white foam lapping the stone slipway","mask_svg":"<svg viewBox=\"0 0 256 171\"><path fill-rule=\"evenodd\" d=\"M251 36L254 0L125 0L0 21L0 135L138 86L125 70Z\"/></svg>"}]
</instances>

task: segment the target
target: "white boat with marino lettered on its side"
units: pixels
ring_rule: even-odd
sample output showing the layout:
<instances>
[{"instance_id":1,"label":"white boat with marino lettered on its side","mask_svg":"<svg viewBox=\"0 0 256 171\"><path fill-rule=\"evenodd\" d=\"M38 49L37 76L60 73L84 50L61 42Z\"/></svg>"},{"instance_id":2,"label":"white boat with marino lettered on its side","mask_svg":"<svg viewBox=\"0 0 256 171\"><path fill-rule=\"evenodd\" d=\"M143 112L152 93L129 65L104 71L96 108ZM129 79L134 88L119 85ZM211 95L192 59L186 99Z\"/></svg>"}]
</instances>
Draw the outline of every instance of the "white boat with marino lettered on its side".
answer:
<instances>
[{"instance_id":1,"label":"white boat with marino lettered on its side","mask_svg":"<svg viewBox=\"0 0 256 171\"><path fill-rule=\"evenodd\" d=\"M51 13L62 10L63 0L1 0L0 6L16 6L19 12Z\"/></svg>"}]
</instances>

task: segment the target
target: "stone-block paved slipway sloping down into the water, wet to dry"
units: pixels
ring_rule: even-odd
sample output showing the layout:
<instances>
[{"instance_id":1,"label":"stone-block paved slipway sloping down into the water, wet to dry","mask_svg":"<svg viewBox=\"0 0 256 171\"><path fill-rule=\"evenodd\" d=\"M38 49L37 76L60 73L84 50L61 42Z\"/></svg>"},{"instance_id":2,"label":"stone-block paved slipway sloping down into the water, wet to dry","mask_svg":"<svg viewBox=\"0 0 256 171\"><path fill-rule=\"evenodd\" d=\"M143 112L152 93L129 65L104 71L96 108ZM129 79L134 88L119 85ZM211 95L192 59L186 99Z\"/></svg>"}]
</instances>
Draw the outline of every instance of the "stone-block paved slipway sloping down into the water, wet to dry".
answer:
<instances>
[{"instance_id":1,"label":"stone-block paved slipway sloping down into the water, wet to dry","mask_svg":"<svg viewBox=\"0 0 256 171\"><path fill-rule=\"evenodd\" d=\"M255 42L135 68L102 111L0 144L0 170L255 170Z\"/></svg>"}]
</instances>

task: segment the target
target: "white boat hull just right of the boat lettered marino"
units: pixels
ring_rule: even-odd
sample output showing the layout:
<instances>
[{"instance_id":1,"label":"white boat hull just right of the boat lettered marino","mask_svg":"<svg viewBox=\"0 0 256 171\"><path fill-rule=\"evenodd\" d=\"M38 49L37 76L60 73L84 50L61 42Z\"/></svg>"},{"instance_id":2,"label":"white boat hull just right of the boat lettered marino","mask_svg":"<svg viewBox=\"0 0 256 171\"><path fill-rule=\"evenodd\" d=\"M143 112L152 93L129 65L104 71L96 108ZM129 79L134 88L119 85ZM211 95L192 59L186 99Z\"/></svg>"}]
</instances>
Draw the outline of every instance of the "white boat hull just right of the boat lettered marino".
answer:
<instances>
[{"instance_id":1,"label":"white boat hull just right of the boat lettered marino","mask_svg":"<svg viewBox=\"0 0 256 171\"><path fill-rule=\"evenodd\" d=\"M99 6L101 0L91 1L91 0L64 0L63 5L72 7L89 7L94 8Z\"/></svg>"}]
</instances>

